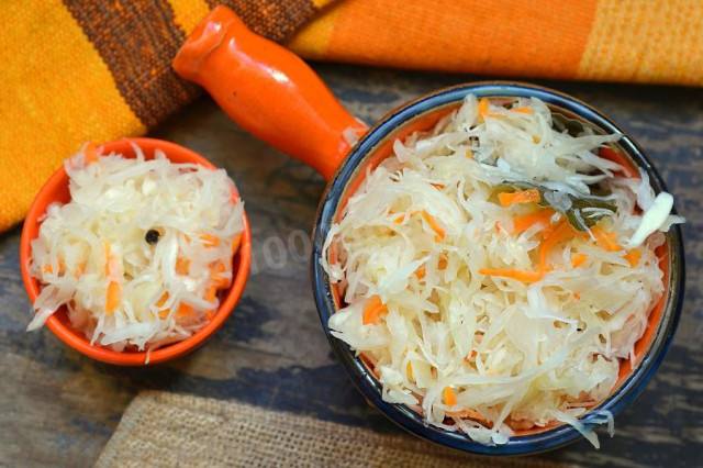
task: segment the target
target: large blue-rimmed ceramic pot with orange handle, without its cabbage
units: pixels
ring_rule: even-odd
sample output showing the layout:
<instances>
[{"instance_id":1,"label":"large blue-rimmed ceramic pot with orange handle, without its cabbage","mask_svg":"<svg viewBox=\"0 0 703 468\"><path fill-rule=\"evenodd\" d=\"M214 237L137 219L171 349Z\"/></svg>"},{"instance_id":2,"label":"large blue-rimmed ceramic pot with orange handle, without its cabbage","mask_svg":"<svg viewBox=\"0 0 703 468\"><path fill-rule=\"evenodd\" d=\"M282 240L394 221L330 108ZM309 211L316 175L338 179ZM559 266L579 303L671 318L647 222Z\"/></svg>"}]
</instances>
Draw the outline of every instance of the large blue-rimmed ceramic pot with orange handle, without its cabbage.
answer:
<instances>
[{"instance_id":1,"label":"large blue-rimmed ceramic pot with orange handle, without its cabbage","mask_svg":"<svg viewBox=\"0 0 703 468\"><path fill-rule=\"evenodd\" d=\"M330 317L344 303L320 260L326 235L332 224L341 219L346 200L359 187L368 169L392 155L393 141L432 129L439 119L458 109L469 93L479 98L539 98L553 112L590 125L595 132L621 133L623 138L601 155L623 165L628 177L637 177L638 169L647 171L655 191L666 190L659 172L631 135L598 110L570 96L535 85L502 81L440 89L393 110L367 131L300 58L253 34L224 7L215 8L193 31L178 53L174 67L182 77L202 85L242 127L314 167L330 181L312 236L313 292L332 347L369 402L411 433L470 453L531 454L580 437L571 426L554 425L522 431L505 445L487 446L461 433L428 426L420 414L405 405L384 402L381 386L372 371L328 328ZM355 143L359 135L360 140ZM617 413L628 404L643 391L671 343L683 299L683 244L678 227L667 234L667 243L658 255L665 271L666 292L635 346L634 360L622 363L620 380L610 398L593 410ZM589 427L595 422L594 414L587 413L581 422Z\"/></svg>"}]
</instances>

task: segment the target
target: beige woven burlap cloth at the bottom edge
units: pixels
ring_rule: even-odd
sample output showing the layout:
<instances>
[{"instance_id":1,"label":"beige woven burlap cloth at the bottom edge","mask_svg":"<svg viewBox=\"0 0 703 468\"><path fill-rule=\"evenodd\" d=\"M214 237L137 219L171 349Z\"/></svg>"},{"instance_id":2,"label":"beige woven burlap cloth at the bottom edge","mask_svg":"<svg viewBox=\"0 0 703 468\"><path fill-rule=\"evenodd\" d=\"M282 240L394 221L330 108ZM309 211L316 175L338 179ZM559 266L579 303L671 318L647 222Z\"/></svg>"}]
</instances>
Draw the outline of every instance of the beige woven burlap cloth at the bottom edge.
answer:
<instances>
[{"instance_id":1,"label":"beige woven burlap cloth at the bottom edge","mask_svg":"<svg viewBox=\"0 0 703 468\"><path fill-rule=\"evenodd\" d=\"M410 435L166 392L130 404L98 468L194 466L562 467L537 458L469 457Z\"/></svg>"}]
</instances>

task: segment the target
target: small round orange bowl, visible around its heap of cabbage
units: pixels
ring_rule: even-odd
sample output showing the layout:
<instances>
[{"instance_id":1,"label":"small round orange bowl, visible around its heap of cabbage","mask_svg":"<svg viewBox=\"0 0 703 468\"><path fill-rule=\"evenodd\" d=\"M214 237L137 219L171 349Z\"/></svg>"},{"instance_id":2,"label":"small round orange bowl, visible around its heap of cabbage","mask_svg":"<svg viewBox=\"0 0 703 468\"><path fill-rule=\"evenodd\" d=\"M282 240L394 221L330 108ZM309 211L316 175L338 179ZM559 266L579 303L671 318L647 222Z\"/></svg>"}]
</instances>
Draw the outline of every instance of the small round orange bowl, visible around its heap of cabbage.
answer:
<instances>
[{"instance_id":1,"label":"small round orange bowl, visible around its heap of cabbage","mask_svg":"<svg viewBox=\"0 0 703 468\"><path fill-rule=\"evenodd\" d=\"M109 142L101 145L102 153L109 154L111 152L122 154L124 157L135 157L134 148L132 144L137 145L144 156L147 159L154 157L154 152L160 149L166 154L166 157L177 164L190 163L198 164L209 169L215 169L208 159L203 158L199 154L185 148L180 145L164 142L154 138L123 138L114 142ZM234 197L238 197L238 193L233 193ZM24 226L22 229L22 238L20 241L20 267L22 269L22 280L24 287L30 297L32 303L36 300L42 285L40 281L32 277L29 272L30 259L32 257L31 241L36 238L40 231L40 219L46 213L46 208L54 202L67 203L70 201L70 193L68 191L68 175L62 166L54 175L47 180L37 193L30 211L24 220ZM72 347L79 353L93 359L101 360L103 363L116 364L120 366L144 366L157 363L164 363L169 359L180 357L190 353L198 346L204 343L217 328L222 326L224 321L230 316L234 307L236 305L246 280L249 276L249 266L252 263L252 233L249 231L249 223L244 213L244 232L242 233L242 244L233 259L232 275L233 283L227 290L222 290L219 294L220 307L213 314L212 320L208 322L205 326L198 332L190 335L188 338L164 346L149 353L148 363L146 352L136 352L125 349L123 352L115 352L104 346L91 345L88 337L82 332L74 330L68 316L66 314L66 308L62 307L54 314L52 314L46 321L46 326L54 332L59 339Z\"/></svg>"}]
</instances>

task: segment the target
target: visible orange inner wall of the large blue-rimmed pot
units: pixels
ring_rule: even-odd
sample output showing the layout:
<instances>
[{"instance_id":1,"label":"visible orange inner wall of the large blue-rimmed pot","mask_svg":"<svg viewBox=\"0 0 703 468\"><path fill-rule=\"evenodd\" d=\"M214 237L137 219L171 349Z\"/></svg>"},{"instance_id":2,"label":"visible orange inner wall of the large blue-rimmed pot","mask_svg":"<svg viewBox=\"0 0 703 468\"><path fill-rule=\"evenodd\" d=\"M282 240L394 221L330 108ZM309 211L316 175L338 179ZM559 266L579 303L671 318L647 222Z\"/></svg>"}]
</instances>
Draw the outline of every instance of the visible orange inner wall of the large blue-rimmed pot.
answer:
<instances>
[{"instance_id":1,"label":"visible orange inner wall of the large blue-rimmed pot","mask_svg":"<svg viewBox=\"0 0 703 468\"><path fill-rule=\"evenodd\" d=\"M365 163L355 170L354 179L348 183L347 188L345 189L341 199L341 203L338 205L339 208L335 213L335 218L334 218L335 222L341 221L342 213L344 212L344 209L347 204L349 197L352 197L358 190L359 186L364 180L364 175L367 174L367 170L373 169L383 159L386 159L387 157L390 157L393 154L393 142L395 140L402 141L414 132L426 132L432 130L437 124L437 122L439 122L442 118L446 116L447 114L458 109L459 107L460 107L460 103L456 103L451 105L436 108L427 113L419 115L414 120L410 120L405 122L405 124L399 127L395 133L389 135L381 144L379 144L376 148L373 148L373 151L365 158ZM558 112L561 112L561 110L558 110L558 109L555 109L555 110ZM563 113L567 114L569 118L573 116L573 114L569 112L563 112ZM622 148L618 148L616 144L613 145L612 148L611 147L603 148L600 155L604 158L611 159L620 164L621 166L623 166L625 168L625 170L623 171L624 176L638 178L639 171L637 170L637 167L634 160L627 157L624 151ZM643 357L647 354L648 349L650 348L651 343L655 338L655 335L657 334L657 330L661 324L661 319L662 319L663 309L665 309L665 301L666 301L666 298L669 296L669 287L671 282L670 275L669 275L670 272L669 244L665 243L662 246L658 247L656 250L656 254L659 257L659 267L663 272L665 291L661 298L659 299L659 301L654 305L649 314L649 320L648 320L648 324L645 330L645 333L635 344L634 361L632 361L631 359L621 360L618 379L615 386L613 387L613 389L611 390L611 393L614 393L625 382L625 380L627 380L627 378L633 374L633 370L638 366L638 364L641 363ZM335 250L334 244L330 248L330 261L332 264L336 261L336 250ZM332 297L335 303L335 308L339 310L341 308L344 307L344 301L342 300L342 293L338 289L337 283L332 283L331 286L332 286ZM369 367L369 363L367 363L366 359L362 359L361 361L372 375L373 369ZM514 432L516 436L528 435L528 434L547 431L549 428L553 428L561 424L550 423L545 427L533 427L529 430L521 430L521 431L514 431Z\"/></svg>"}]
</instances>

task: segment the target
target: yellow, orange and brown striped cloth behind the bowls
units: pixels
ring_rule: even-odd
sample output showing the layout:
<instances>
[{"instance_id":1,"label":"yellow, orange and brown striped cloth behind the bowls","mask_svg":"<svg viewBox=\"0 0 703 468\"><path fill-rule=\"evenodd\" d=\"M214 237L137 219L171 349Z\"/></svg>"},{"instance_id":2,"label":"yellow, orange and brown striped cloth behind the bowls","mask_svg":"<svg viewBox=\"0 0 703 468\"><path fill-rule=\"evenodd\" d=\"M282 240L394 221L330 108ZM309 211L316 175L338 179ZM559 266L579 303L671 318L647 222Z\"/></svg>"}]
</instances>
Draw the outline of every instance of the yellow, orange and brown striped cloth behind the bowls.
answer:
<instances>
[{"instance_id":1,"label":"yellow, orange and brown striped cloth behind the bowls","mask_svg":"<svg viewBox=\"0 0 703 468\"><path fill-rule=\"evenodd\" d=\"M306 58L703 85L703 3L689 0L1 2L0 231L82 142L144 134L199 93L170 62L219 3Z\"/></svg>"}]
</instances>

